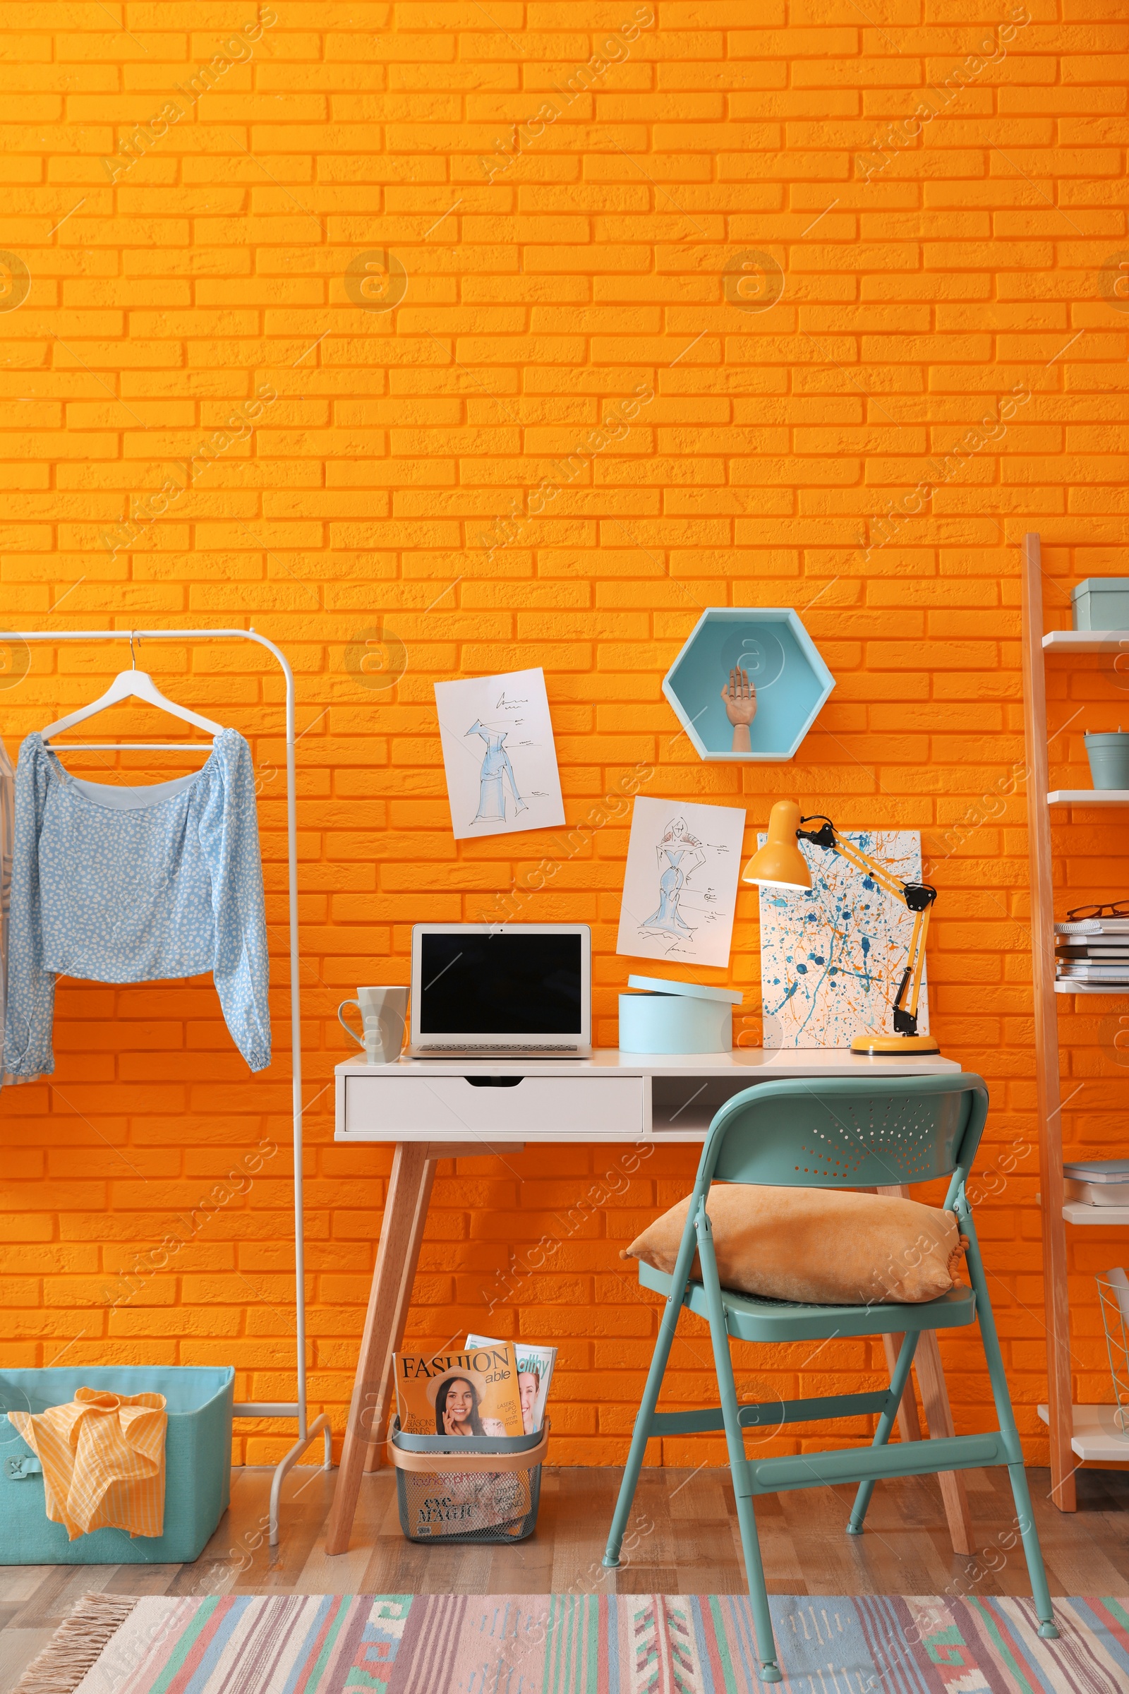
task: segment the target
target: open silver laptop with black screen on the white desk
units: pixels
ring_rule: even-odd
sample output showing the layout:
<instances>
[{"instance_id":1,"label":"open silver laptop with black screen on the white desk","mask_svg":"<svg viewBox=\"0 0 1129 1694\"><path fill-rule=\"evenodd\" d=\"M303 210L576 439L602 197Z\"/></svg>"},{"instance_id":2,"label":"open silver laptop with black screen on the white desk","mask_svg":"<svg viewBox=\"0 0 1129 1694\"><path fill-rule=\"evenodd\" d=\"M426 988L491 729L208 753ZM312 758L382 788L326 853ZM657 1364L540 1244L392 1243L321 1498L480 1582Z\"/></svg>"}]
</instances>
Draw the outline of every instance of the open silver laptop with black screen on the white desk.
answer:
<instances>
[{"instance_id":1,"label":"open silver laptop with black screen on the white desk","mask_svg":"<svg viewBox=\"0 0 1129 1694\"><path fill-rule=\"evenodd\" d=\"M411 1059L587 1059L587 923L416 923Z\"/></svg>"}]
</instances>

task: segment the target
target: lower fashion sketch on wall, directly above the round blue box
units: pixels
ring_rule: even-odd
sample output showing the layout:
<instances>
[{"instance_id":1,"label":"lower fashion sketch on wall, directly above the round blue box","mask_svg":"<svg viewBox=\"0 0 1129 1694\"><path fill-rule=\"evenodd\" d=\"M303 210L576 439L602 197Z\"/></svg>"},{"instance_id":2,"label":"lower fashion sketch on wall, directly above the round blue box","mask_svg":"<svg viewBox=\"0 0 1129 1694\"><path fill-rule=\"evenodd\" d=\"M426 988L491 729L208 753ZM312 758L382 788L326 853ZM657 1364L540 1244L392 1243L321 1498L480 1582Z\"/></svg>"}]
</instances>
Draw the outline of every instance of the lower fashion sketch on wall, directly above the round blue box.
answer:
<instances>
[{"instance_id":1,"label":"lower fashion sketch on wall, directly above the round blue box","mask_svg":"<svg viewBox=\"0 0 1129 1694\"><path fill-rule=\"evenodd\" d=\"M728 966L745 811L636 794L618 954Z\"/></svg>"}]
</instances>

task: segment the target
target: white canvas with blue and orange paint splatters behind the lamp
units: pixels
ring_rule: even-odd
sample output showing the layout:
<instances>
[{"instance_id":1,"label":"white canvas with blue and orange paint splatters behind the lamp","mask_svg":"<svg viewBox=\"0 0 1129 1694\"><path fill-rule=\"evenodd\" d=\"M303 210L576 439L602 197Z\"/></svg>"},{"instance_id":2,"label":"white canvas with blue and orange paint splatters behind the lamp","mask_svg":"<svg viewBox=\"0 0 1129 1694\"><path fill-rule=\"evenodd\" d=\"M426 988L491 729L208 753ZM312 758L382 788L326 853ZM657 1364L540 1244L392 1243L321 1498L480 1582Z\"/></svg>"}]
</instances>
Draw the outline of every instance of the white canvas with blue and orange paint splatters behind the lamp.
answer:
<instances>
[{"instance_id":1,"label":"white canvas with blue and orange paint splatters behind the lamp","mask_svg":"<svg viewBox=\"0 0 1129 1694\"><path fill-rule=\"evenodd\" d=\"M921 881L917 830L845 832L897 881ZM767 835L758 835L763 847ZM912 915L824 847L799 842L811 889L760 889L760 996L765 1047L850 1047L863 1030L894 1033ZM917 1028L929 1033L922 974Z\"/></svg>"}]
</instances>

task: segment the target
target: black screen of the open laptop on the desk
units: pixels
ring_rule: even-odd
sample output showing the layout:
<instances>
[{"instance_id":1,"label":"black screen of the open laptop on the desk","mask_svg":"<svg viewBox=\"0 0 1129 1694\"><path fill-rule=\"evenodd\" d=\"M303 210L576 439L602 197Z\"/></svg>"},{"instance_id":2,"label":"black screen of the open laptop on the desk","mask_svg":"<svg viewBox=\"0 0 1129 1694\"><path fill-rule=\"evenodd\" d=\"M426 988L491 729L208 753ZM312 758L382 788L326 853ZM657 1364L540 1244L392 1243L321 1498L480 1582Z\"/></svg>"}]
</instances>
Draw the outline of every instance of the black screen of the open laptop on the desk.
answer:
<instances>
[{"instance_id":1,"label":"black screen of the open laptop on the desk","mask_svg":"<svg viewBox=\"0 0 1129 1694\"><path fill-rule=\"evenodd\" d=\"M420 937L420 1035L581 1035L579 935Z\"/></svg>"}]
</instances>

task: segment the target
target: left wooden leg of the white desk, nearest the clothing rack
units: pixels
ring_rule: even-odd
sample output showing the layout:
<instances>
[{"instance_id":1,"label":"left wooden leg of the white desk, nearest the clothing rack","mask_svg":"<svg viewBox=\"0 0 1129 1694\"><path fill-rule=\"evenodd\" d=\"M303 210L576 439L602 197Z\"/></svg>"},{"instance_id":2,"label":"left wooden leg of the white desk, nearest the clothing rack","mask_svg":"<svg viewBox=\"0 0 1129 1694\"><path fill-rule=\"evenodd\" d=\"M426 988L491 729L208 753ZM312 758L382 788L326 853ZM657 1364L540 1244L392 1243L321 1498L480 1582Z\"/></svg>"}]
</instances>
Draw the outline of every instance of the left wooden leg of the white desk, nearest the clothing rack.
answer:
<instances>
[{"instance_id":1,"label":"left wooden leg of the white desk, nearest the clothing rack","mask_svg":"<svg viewBox=\"0 0 1129 1694\"><path fill-rule=\"evenodd\" d=\"M428 1164L432 1165L432 1172L435 1171L433 1160L427 1157L428 1152L430 1147L427 1142L396 1143L393 1176L388 1184L388 1201L384 1204L381 1245L376 1255L369 1309L361 1337L357 1379L352 1389L352 1404L349 1406L345 1447L337 1470L333 1506L325 1526L327 1553L344 1553L349 1550L366 1448L372 1431L372 1418L381 1404L393 1331L399 1315L399 1303L405 1298L405 1260L408 1259L413 1233L416 1232L420 1194L428 1177Z\"/></svg>"}]
</instances>

